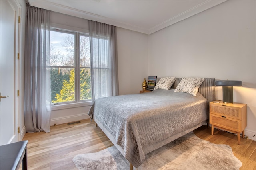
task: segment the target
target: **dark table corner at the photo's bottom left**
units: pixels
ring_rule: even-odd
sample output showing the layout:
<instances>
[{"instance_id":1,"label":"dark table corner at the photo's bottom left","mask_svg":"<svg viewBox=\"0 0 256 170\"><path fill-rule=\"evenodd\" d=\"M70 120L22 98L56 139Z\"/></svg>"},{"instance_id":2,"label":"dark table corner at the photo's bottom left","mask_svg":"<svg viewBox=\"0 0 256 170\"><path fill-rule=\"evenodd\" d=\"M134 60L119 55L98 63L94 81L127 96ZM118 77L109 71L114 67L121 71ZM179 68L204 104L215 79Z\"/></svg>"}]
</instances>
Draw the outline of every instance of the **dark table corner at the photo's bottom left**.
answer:
<instances>
[{"instance_id":1,"label":"dark table corner at the photo's bottom left","mask_svg":"<svg viewBox=\"0 0 256 170\"><path fill-rule=\"evenodd\" d=\"M20 141L0 146L0 170L27 170L28 141Z\"/></svg>"}]
</instances>

